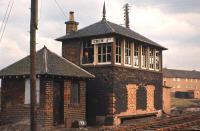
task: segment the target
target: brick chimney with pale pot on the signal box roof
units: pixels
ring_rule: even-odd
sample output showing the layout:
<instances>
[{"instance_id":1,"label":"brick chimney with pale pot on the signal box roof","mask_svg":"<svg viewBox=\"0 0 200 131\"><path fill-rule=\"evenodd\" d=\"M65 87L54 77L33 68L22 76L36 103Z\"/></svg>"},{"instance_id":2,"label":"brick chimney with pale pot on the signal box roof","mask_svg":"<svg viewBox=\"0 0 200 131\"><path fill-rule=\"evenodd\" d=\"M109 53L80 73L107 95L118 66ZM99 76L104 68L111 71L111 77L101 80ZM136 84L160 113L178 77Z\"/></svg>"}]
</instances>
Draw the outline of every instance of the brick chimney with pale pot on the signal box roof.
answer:
<instances>
[{"instance_id":1,"label":"brick chimney with pale pot on the signal box roof","mask_svg":"<svg viewBox=\"0 0 200 131\"><path fill-rule=\"evenodd\" d=\"M65 22L66 24L66 34L70 32L75 32L78 30L78 22L74 21L74 12L69 12L69 21Z\"/></svg>"}]
</instances>

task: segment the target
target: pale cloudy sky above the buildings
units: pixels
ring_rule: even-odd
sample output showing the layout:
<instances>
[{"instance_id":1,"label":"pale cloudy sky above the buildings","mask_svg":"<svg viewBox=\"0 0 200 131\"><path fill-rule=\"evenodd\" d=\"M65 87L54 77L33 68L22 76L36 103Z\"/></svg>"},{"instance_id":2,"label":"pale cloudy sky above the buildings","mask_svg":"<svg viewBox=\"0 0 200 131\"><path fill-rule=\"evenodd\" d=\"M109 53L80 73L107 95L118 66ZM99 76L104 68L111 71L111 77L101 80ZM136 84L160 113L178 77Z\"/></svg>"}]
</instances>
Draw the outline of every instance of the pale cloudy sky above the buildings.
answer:
<instances>
[{"instance_id":1,"label":"pale cloudy sky above the buildings","mask_svg":"<svg viewBox=\"0 0 200 131\"><path fill-rule=\"evenodd\" d=\"M30 1L14 0L2 41L0 69L29 54ZM60 8L56 4L59 3ZM102 19L104 0L39 0L37 50L44 45L61 55L68 12L75 12L79 29ZM168 48L164 67L200 70L200 0L105 0L106 19L124 24L123 5L130 4L132 30ZM9 1L0 0L0 26ZM63 13L64 12L64 13ZM0 32L1 33L1 32Z\"/></svg>"}]
</instances>

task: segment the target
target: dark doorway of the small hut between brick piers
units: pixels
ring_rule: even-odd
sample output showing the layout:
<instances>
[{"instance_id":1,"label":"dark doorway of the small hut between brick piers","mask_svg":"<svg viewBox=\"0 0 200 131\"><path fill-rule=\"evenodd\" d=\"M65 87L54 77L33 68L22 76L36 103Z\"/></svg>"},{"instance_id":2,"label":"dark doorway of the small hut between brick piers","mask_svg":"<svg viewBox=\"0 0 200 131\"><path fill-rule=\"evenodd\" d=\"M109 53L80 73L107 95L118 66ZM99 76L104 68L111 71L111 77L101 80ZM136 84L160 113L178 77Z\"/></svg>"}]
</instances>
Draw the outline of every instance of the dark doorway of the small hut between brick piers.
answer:
<instances>
[{"instance_id":1,"label":"dark doorway of the small hut between brick piers","mask_svg":"<svg viewBox=\"0 0 200 131\"><path fill-rule=\"evenodd\" d=\"M53 101L54 125L64 124L64 89L62 81L54 81Z\"/></svg>"}]
</instances>

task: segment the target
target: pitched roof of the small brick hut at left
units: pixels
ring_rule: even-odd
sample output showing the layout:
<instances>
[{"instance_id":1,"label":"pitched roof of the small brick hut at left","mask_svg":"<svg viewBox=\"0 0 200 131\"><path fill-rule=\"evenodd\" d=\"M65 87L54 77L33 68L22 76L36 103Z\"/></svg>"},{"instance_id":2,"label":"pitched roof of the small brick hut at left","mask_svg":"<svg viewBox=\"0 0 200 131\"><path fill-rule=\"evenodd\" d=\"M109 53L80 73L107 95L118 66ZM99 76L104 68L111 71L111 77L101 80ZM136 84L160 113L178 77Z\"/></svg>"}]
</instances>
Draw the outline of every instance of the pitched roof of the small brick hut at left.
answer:
<instances>
[{"instance_id":1,"label":"pitched roof of the small brick hut at left","mask_svg":"<svg viewBox=\"0 0 200 131\"><path fill-rule=\"evenodd\" d=\"M30 56L0 70L1 76L30 74ZM46 47L36 53L36 74L48 74L68 77L94 78L92 74L67 59L51 52Z\"/></svg>"}]
</instances>

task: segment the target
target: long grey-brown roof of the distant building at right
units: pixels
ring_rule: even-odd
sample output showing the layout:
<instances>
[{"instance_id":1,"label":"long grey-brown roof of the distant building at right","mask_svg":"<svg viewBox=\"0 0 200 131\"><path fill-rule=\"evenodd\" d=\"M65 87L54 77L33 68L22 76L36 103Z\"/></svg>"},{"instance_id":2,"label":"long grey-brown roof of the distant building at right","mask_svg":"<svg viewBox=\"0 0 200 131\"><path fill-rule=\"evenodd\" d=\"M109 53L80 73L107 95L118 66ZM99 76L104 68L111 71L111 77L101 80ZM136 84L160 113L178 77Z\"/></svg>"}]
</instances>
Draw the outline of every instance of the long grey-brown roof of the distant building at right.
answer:
<instances>
[{"instance_id":1,"label":"long grey-brown roof of the distant building at right","mask_svg":"<svg viewBox=\"0 0 200 131\"><path fill-rule=\"evenodd\" d=\"M200 79L199 71L188 71L188 70L175 70L175 69L163 69L163 76L169 78L193 78Z\"/></svg>"}]
</instances>

